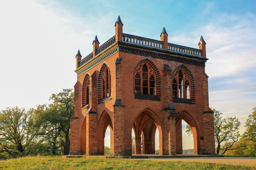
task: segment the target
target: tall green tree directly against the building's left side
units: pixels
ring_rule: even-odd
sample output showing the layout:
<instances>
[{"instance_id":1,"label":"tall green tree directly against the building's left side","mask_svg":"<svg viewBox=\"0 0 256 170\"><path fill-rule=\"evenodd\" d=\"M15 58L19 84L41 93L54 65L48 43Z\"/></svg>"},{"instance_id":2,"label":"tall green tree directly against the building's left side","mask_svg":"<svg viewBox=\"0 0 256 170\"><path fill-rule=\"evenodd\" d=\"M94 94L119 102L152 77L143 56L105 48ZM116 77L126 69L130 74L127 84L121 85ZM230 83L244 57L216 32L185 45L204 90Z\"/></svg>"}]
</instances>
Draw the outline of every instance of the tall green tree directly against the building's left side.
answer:
<instances>
[{"instance_id":1,"label":"tall green tree directly against the building's left side","mask_svg":"<svg viewBox=\"0 0 256 170\"><path fill-rule=\"evenodd\" d=\"M49 105L50 109L47 113L52 115L52 119L54 117L54 120L49 121L53 124L58 122L58 127L65 137L65 141L61 142L64 147L64 155L68 155L70 148L69 118L74 114L74 92L72 92L72 89L63 89L63 92L52 94L49 100L53 103Z\"/></svg>"}]
</instances>

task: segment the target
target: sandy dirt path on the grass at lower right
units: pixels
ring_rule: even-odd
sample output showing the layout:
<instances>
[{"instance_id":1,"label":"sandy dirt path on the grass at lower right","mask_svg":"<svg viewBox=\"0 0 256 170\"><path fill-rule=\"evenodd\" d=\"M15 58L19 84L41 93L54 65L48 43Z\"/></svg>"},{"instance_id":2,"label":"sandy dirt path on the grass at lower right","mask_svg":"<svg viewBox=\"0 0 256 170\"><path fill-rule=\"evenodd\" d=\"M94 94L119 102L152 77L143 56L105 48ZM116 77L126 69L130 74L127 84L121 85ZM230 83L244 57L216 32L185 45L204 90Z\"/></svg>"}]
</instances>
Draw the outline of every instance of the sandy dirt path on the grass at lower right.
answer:
<instances>
[{"instance_id":1,"label":"sandy dirt path on the grass at lower right","mask_svg":"<svg viewBox=\"0 0 256 170\"><path fill-rule=\"evenodd\" d=\"M145 159L146 160L146 159ZM224 158L155 158L154 160L163 161L183 161L183 162L208 162L216 164L230 164L230 165L247 165L256 167L256 158L240 158L240 157L224 157Z\"/></svg>"}]
</instances>

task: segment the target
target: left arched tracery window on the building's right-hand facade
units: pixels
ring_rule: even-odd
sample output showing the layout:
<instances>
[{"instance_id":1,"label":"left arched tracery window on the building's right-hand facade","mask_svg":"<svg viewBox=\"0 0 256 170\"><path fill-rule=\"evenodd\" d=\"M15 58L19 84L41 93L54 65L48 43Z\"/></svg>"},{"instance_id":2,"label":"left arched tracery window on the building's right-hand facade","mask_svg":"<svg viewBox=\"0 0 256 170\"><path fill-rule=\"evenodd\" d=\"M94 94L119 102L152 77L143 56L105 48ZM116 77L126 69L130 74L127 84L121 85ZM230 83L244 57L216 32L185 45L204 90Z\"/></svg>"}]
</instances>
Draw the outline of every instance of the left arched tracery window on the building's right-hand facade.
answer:
<instances>
[{"instance_id":1,"label":"left arched tracery window on the building's right-hand facade","mask_svg":"<svg viewBox=\"0 0 256 170\"><path fill-rule=\"evenodd\" d=\"M156 74L147 63L142 63L135 72L135 93L156 95Z\"/></svg>"}]
</instances>

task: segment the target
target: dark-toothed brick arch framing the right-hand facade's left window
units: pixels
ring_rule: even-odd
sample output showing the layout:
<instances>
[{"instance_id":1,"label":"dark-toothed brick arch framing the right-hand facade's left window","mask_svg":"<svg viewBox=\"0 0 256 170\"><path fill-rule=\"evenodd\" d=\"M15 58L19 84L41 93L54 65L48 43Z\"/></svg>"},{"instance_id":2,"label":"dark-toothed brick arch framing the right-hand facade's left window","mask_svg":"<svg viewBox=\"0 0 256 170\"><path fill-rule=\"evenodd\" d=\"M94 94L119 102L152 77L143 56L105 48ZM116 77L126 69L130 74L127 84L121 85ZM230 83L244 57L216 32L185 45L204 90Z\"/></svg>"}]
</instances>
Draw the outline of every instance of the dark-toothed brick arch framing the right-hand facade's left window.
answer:
<instances>
[{"instance_id":1,"label":"dark-toothed brick arch framing the right-hand facade's left window","mask_svg":"<svg viewBox=\"0 0 256 170\"><path fill-rule=\"evenodd\" d=\"M160 76L160 71L157 68L156 64L148 59L148 58L143 58L142 60L140 60L134 67L133 69L133 93L135 94L135 72L137 70L137 68L142 64L142 63L148 63L148 65L150 65L152 67L152 69L154 70L155 74L156 74L156 96L157 97L161 97L161 76Z\"/></svg>"}]
</instances>

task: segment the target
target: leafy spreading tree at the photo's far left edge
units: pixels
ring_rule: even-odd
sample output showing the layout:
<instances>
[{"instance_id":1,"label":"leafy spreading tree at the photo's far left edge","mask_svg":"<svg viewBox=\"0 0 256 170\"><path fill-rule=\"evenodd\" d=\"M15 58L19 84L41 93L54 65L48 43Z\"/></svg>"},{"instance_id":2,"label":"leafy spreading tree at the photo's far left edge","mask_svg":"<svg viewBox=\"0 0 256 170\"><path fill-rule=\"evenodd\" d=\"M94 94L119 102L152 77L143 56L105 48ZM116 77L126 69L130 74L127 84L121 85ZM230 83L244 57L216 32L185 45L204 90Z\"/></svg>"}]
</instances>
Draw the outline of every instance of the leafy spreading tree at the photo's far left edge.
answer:
<instances>
[{"instance_id":1,"label":"leafy spreading tree at the photo's far left edge","mask_svg":"<svg viewBox=\"0 0 256 170\"><path fill-rule=\"evenodd\" d=\"M0 112L0 152L11 157L30 153L29 146L37 143L36 115L33 110L6 108Z\"/></svg>"}]
</instances>

